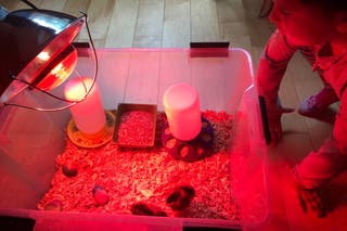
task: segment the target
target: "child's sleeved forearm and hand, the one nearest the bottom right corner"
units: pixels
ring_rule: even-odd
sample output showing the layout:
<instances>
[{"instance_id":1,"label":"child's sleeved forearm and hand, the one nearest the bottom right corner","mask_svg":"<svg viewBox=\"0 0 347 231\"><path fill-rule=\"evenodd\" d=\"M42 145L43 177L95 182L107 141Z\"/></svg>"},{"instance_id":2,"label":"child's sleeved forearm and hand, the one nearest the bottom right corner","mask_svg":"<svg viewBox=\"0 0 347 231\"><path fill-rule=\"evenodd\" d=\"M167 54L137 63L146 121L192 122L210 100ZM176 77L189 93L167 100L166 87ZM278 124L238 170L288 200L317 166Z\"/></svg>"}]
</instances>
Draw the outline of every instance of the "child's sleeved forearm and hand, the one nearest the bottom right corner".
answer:
<instances>
[{"instance_id":1,"label":"child's sleeved forearm and hand, the one nearest the bottom right corner","mask_svg":"<svg viewBox=\"0 0 347 231\"><path fill-rule=\"evenodd\" d=\"M347 168L347 155L337 145L333 139L325 140L318 152L309 153L293 168L293 185L304 213L312 210L325 217L331 209L324 185Z\"/></svg>"}]
</instances>

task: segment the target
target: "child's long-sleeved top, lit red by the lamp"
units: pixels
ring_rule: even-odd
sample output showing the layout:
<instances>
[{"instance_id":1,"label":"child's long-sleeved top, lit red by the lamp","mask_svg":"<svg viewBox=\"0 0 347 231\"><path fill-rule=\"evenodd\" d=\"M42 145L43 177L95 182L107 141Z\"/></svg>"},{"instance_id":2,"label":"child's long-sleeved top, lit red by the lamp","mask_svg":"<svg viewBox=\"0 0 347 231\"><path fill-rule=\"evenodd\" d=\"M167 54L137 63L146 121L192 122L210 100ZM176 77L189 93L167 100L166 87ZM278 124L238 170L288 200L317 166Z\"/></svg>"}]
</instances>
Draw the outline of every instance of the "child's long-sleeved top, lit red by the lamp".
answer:
<instances>
[{"instance_id":1,"label":"child's long-sleeved top, lit red by the lamp","mask_svg":"<svg viewBox=\"0 0 347 231\"><path fill-rule=\"evenodd\" d=\"M314 47L290 44L279 30L270 37L257 69L259 95L277 102L281 80L288 62L299 51L325 85L331 86L340 100L333 136L322 146L310 152L294 169L296 180L305 188L320 187L347 168L347 41L334 48L331 43Z\"/></svg>"}]
</instances>

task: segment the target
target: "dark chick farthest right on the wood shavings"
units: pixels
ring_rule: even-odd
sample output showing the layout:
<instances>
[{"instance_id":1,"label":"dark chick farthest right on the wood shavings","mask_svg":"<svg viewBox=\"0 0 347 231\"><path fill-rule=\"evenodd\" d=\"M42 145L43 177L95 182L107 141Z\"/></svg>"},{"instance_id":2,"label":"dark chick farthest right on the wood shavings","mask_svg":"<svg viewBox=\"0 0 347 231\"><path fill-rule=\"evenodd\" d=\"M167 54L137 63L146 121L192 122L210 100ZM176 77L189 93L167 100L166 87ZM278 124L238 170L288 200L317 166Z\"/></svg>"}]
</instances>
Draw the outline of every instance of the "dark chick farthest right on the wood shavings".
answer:
<instances>
[{"instance_id":1,"label":"dark chick farthest right on the wood shavings","mask_svg":"<svg viewBox=\"0 0 347 231\"><path fill-rule=\"evenodd\" d=\"M184 210L191 205L195 190L189 185L177 188L166 200L166 204L174 210Z\"/></svg>"}]
</instances>

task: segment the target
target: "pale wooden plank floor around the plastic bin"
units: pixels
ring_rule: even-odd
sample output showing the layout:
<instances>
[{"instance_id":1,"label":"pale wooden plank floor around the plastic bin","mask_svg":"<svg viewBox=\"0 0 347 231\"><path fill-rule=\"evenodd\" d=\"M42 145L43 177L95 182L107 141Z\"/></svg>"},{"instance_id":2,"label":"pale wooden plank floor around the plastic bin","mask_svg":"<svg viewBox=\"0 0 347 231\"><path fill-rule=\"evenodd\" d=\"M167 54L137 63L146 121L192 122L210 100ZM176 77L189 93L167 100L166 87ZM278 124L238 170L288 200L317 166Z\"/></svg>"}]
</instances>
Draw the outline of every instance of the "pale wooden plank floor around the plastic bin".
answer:
<instances>
[{"instance_id":1,"label":"pale wooden plank floor around the plastic bin","mask_svg":"<svg viewBox=\"0 0 347 231\"><path fill-rule=\"evenodd\" d=\"M79 15L88 23L97 48L185 48L190 41L230 41L253 56L254 66L274 27L258 17L260 0L31 0L38 8ZM0 0L9 10L23 9L20 1ZM79 40L86 40L81 31ZM321 82L304 59L296 54L284 77L282 103L297 107L317 92ZM336 111L334 105L333 111ZM332 192L336 208L318 219L300 211L295 195L283 184L284 162L297 163L317 150L332 131L334 113L324 120L305 118L297 113L283 117L283 142L269 147L272 215L264 230L347 230L344 214L346 198ZM346 178L345 178L346 179ZM284 181L283 181L284 180ZM339 181L343 181L340 178ZM337 183L339 182L336 181ZM340 189L340 188L339 188ZM346 187L344 187L346 189ZM346 190L345 190L346 192ZM338 204L343 203L343 205ZM345 226L345 227L343 227Z\"/></svg>"}]
</instances>

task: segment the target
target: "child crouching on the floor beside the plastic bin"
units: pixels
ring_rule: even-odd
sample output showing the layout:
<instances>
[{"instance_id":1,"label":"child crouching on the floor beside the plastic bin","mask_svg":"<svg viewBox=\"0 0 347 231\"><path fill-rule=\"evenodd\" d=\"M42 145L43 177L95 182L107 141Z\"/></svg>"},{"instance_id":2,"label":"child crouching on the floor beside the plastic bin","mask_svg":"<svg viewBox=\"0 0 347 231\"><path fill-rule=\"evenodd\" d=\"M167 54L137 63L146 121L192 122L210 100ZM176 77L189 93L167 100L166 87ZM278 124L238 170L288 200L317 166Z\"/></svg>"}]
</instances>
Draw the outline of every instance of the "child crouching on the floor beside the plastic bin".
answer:
<instances>
[{"instance_id":1,"label":"child crouching on the floor beside the plastic bin","mask_svg":"<svg viewBox=\"0 0 347 231\"><path fill-rule=\"evenodd\" d=\"M266 101L272 142L281 139L282 114L293 112L281 105L278 92L296 51L304 54L324 82L324 88L306 99L298 112L314 117L340 101L332 137L293 168L299 196L322 216L320 189L347 168L347 1L274 0L270 20L277 30L260 57L257 87Z\"/></svg>"}]
</instances>

